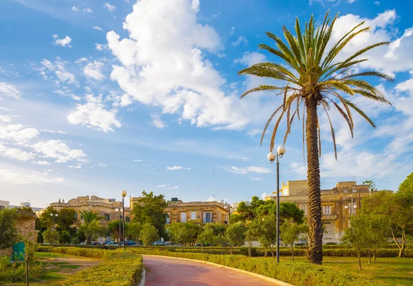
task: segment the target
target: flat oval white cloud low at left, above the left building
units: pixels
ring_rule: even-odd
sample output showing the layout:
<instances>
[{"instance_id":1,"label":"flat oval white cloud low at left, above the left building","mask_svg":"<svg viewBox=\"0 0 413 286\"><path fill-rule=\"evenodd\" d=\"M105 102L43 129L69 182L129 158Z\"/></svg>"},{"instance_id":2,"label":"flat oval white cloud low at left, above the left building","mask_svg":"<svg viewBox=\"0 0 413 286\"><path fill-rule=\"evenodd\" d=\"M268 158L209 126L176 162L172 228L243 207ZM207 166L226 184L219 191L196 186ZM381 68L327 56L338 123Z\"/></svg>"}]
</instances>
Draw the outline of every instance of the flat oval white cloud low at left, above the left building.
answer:
<instances>
[{"instance_id":1,"label":"flat oval white cloud low at left, above the left building","mask_svg":"<svg viewBox=\"0 0 413 286\"><path fill-rule=\"evenodd\" d=\"M37 142L32 146L34 151L45 158L54 158L56 163L64 163L72 159L81 159L86 154L80 149L71 149L61 140L49 140Z\"/></svg>"}]
</instances>

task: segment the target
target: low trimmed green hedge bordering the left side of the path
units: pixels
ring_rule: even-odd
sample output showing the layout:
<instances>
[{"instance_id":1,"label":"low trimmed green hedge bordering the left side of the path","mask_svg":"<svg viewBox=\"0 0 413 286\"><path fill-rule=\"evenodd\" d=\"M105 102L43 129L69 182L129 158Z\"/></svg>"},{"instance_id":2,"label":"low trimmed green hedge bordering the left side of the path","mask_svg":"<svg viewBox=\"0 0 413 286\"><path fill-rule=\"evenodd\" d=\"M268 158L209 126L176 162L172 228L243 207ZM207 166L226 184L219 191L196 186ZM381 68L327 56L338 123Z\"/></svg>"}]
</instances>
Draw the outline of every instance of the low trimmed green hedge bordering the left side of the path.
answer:
<instances>
[{"instance_id":1,"label":"low trimmed green hedge bordering the left side of the path","mask_svg":"<svg viewBox=\"0 0 413 286\"><path fill-rule=\"evenodd\" d=\"M39 252L49 252L49 247L39 247ZM52 248L52 252L104 259L98 265L72 274L61 283L64 286L132 286L140 282L143 271L142 256L123 250L98 250L92 248Z\"/></svg>"}]
</instances>

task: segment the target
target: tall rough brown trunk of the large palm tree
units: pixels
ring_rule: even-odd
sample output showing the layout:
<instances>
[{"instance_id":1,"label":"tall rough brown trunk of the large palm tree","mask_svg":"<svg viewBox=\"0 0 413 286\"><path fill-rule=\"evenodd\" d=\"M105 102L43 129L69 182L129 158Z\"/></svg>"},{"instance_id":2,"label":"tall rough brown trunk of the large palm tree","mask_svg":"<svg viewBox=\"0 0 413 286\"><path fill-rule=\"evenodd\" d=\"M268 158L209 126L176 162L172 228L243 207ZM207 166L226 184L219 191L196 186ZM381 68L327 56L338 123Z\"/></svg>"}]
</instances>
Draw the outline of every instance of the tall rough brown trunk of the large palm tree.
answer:
<instances>
[{"instance_id":1,"label":"tall rough brown trunk of the large palm tree","mask_svg":"<svg viewBox=\"0 0 413 286\"><path fill-rule=\"evenodd\" d=\"M317 135L317 99L306 100L307 181L309 209L308 261L323 261L323 225L321 221L320 167Z\"/></svg>"}]
</instances>

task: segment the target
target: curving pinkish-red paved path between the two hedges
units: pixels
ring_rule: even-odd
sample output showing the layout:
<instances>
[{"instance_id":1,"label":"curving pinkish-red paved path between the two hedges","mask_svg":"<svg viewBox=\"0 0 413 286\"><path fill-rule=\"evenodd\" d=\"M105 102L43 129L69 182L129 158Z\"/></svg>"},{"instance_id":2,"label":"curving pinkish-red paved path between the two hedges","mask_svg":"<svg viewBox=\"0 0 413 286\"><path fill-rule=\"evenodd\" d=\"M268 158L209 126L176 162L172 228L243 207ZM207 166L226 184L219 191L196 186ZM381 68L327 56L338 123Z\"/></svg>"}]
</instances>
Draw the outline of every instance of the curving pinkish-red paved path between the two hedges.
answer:
<instances>
[{"instance_id":1,"label":"curving pinkish-red paved path between the two hedges","mask_svg":"<svg viewBox=\"0 0 413 286\"><path fill-rule=\"evenodd\" d=\"M147 269L145 286L274 286L275 284L234 270L180 259L143 255Z\"/></svg>"}]
</instances>

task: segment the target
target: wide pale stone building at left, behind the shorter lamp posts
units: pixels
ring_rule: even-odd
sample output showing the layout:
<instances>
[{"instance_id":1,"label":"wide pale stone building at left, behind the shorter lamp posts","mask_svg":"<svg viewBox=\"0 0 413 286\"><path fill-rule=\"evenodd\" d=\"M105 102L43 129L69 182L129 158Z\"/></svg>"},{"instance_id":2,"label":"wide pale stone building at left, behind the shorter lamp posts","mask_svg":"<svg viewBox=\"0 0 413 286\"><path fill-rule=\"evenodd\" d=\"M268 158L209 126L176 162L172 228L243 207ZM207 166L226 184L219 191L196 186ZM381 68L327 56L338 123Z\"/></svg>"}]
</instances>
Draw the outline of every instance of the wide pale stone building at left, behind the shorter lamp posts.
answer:
<instances>
[{"instance_id":1,"label":"wide pale stone building at left, behind the shorter lamp posts","mask_svg":"<svg viewBox=\"0 0 413 286\"><path fill-rule=\"evenodd\" d=\"M103 217L102 220L104 223L108 221L113 221L114 219L119 219L119 212L116 212L116 209L122 209L122 201L116 201L115 199L103 199L96 195L91 197L76 197L75 199L70 199L65 203L65 201L50 203L50 206L55 210L61 210L62 208L73 208L76 210L76 222L74 223L75 227L78 227L82 224L82 215L81 210L92 210L97 212L99 217ZM125 221L129 222L131 219L131 209L125 207Z\"/></svg>"}]
</instances>

